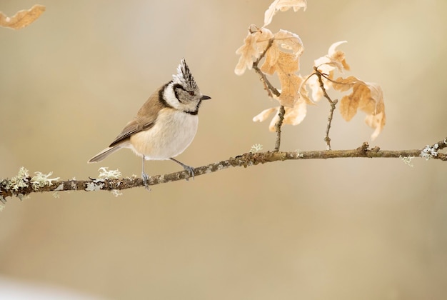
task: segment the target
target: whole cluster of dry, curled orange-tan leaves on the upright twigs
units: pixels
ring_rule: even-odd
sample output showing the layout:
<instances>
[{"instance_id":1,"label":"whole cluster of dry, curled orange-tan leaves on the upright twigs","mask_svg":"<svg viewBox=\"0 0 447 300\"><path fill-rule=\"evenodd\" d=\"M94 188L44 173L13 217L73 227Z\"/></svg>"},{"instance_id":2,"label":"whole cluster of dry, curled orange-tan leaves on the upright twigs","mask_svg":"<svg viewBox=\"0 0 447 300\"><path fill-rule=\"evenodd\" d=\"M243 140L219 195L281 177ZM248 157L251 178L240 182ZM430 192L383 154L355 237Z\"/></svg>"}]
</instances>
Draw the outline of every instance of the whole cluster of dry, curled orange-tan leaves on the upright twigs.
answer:
<instances>
[{"instance_id":1,"label":"whole cluster of dry, curled orange-tan leaves on the upright twigs","mask_svg":"<svg viewBox=\"0 0 447 300\"><path fill-rule=\"evenodd\" d=\"M385 125L385 106L383 104L383 93L378 84L361 81L354 76L335 78L335 73L343 74L349 71L349 66L345 60L345 54L337 50L337 46L346 41L339 41L330 46L328 54L314 61L313 73L308 76L297 74L299 71L299 59L303 53L303 43L298 35L290 31L280 30L273 34L265 27L271 23L277 11L293 9L306 10L306 0L275 0L265 13L264 25L258 28L251 25L248 35L243 41L243 45L236 51L240 55L235 68L237 75L242 75L246 69L251 69L253 64L259 59L264 59L261 71L264 74L273 75L276 73L281 84L280 96L268 93L284 106L286 114L283 123L297 125L306 116L306 106L315 104L323 96L321 84L316 75L321 74L323 87L346 92L340 101L340 112L343 119L350 121L358 110L366 113L366 124L375 129L371 139L375 139L380 134ZM308 96L309 92L311 96ZM264 121L274 114L269 129L275 131L279 106L261 111L253 118L253 121Z\"/></svg>"}]
</instances>

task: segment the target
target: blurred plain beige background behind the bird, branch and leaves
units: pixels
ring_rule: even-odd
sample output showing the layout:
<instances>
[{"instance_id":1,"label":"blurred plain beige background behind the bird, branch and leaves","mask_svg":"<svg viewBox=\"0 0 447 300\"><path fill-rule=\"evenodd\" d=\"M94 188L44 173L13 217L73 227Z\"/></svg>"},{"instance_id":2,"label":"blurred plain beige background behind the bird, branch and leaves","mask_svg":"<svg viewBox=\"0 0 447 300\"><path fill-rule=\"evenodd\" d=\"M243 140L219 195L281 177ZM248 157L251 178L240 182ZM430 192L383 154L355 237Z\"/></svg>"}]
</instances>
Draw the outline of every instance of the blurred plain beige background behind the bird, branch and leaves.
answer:
<instances>
[{"instance_id":1,"label":"blurred plain beige background behind the bird, branch and leaves","mask_svg":"<svg viewBox=\"0 0 447 300\"><path fill-rule=\"evenodd\" d=\"M269 28L301 36L301 73L347 40L352 74L381 84L387 124L371 142L417 149L447 136L447 2L308 1ZM275 105L234 53L270 0L51 1L31 26L0 28L0 178L20 166L61 179L100 166L140 174L107 146L185 57L204 94L179 159L201 166L273 149ZM12 15L34 1L2 0ZM283 150L324 149L328 105L283 128ZM359 114L336 114L333 149L369 141ZM447 165L415 159L286 161L124 191L33 194L0 214L0 277L101 299L443 299ZM149 162L149 174L179 171ZM0 298L2 291L0 291ZM81 297L81 296L79 296Z\"/></svg>"}]
</instances>

